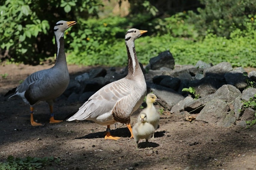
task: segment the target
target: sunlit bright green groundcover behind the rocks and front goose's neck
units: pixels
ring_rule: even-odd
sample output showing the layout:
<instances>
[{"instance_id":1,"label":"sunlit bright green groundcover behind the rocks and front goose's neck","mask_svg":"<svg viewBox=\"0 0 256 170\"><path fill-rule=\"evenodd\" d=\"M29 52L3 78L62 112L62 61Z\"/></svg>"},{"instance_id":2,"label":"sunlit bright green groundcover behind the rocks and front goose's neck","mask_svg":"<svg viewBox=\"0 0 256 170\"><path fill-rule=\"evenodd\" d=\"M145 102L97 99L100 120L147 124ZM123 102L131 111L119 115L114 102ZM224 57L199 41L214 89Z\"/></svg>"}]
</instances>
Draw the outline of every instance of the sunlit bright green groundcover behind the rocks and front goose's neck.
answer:
<instances>
[{"instance_id":1,"label":"sunlit bright green groundcover behind the rocks and front goose's neck","mask_svg":"<svg viewBox=\"0 0 256 170\"><path fill-rule=\"evenodd\" d=\"M113 21L115 22L111 23ZM87 30L79 32L80 35L72 33L75 34L74 44L71 43L74 50L69 51L68 63L125 66L127 64L127 53L124 35L128 28L121 28L117 24L126 22L125 19L109 19L108 22L98 20L96 23L98 25L94 25L93 22L95 20L87 22L90 23L87 27L93 25L89 29L89 33L86 33ZM256 67L256 63L252 62L255 60L256 54L254 48L256 39L255 22L251 21L250 18L246 19L245 22L246 29L240 30L237 28L230 34L230 39L217 37L217 35L211 33L205 39L196 42L193 39L175 38L171 32L160 36L147 36L148 33L146 33L135 42L139 62L148 64L151 57L155 57L165 50L170 50L177 64L194 65L198 60L203 60L212 64L225 61L230 62L232 66ZM108 25L103 29L104 23L108 23ZM117 34L123 37L116 38L115 35ZM91 39L86 40L87 37L93 37L92 41Z\"/></svg>"}]
</instances>

